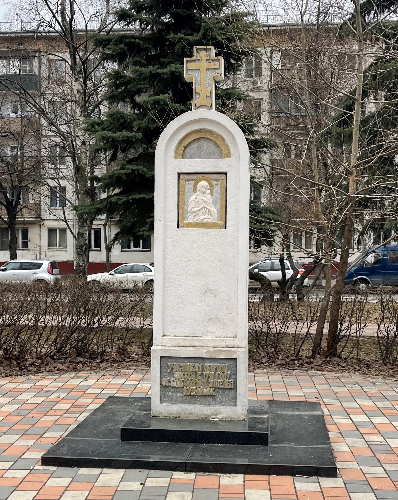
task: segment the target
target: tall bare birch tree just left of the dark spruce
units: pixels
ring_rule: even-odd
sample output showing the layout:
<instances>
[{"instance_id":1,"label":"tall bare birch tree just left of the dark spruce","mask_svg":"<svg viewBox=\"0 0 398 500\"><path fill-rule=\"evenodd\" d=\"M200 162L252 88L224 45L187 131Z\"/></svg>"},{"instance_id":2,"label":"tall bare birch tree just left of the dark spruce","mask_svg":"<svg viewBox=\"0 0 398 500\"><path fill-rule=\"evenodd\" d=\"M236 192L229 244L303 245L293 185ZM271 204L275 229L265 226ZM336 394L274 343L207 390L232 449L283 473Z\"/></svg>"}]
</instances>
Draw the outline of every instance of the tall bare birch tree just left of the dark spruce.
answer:
<instances>
[{"instance_id":1,"label":"tall bare birch tree just left of the dark spruce","mask_svg":"<svg viewBox=\"0 0 398 500\"><path fill-rule=\"evenodd\" d=\"M96 50L95 37L114 27L111 4L110 0L104 4L26 0L17 8L22 6L25 22L34 23L45 34L45 42L37 50L40 85L33 91L13 74L2 77L1 84L6 89L14 88L41 119L40 180L62 199L62 217L75 239L75 274L85 276L91 225L96 216L87 205L96 199L94 179L103 164L86 124L87 119L98 118L105 109L104 75L108 65ZM21 50L27 48L22 44ZM61 157L63 165L59 164ZM67 184L66 192L62 183ZM71 209L75 224L67 220Z\"/></svg>"}]
</instances>

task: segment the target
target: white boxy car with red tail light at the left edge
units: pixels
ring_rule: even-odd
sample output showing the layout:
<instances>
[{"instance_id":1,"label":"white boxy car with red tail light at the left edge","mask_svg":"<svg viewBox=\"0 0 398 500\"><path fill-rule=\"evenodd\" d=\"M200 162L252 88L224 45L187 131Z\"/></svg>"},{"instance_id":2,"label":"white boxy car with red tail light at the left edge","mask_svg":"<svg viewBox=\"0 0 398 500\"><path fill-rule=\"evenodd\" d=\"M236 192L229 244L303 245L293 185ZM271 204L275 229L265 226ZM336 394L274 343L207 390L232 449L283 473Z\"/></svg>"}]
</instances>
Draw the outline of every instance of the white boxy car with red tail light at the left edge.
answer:
<instances>
[{"instance_id":1,"label":"white boxy car with red tail light at the left edge","mask_svg":"<svg viewBox=\"0 0 398 500\"><path fill-rule=\"evenodd\" d=\"M0 267L1 281L42 281L56 283L61 279L54 260L13 259Z\"/></svg>"}]
</instances>

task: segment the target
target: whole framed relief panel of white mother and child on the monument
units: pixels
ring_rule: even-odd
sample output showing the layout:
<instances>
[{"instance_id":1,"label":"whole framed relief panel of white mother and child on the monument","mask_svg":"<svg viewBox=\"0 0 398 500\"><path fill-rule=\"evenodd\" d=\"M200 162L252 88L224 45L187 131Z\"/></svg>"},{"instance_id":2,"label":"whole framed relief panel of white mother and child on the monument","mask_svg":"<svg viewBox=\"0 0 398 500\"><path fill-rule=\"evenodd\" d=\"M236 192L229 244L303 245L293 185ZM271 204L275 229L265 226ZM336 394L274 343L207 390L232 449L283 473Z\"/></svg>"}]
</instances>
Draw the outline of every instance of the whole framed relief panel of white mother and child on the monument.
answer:
<instances>
[{"instance_id":1,"label":"whole framed relief panel of white mother and child on the monument","mask_svg":"<svg viewBox=\"0 0 398 500\"><path fill-rule=\"evenodd\" d=\"M226 174L179 175L181 228L225 228Z\"/></svg>"}]
</instances>

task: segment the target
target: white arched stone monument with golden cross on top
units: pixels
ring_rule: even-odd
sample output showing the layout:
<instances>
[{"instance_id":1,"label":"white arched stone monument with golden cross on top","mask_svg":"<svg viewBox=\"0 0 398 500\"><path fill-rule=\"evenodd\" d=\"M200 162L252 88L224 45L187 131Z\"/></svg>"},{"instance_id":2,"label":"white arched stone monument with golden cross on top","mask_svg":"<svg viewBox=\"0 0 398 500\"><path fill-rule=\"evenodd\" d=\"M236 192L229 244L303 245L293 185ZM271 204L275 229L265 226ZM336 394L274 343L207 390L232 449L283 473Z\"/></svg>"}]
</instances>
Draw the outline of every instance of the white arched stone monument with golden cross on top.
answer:
<instances>
[{"instance_id":1,"label":"white arched stone monument with golden cross on top","mask_svg":"<svg viewBox=\"0 0 398 500\"><path fill-rule=\"evenodd\" d=\"M185 59L193 111L155 154L151 415L242 419L247 413L249 148L214 110L224 78L214 48Z\"/></svg>"}]
</instances>

